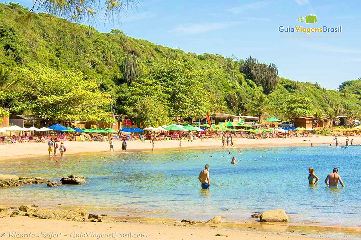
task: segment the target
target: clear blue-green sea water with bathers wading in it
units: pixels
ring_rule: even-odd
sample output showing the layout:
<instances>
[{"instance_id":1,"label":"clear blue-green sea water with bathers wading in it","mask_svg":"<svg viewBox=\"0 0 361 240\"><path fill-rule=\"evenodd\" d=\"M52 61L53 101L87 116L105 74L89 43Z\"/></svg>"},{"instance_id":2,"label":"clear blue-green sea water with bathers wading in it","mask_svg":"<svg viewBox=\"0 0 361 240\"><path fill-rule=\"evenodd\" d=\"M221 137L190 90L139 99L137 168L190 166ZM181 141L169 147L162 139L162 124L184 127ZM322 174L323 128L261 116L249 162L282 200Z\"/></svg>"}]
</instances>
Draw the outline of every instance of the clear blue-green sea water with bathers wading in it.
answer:
<instances>
[{"instance_id":1,"label":"clear blue-green sea water with bathers wading in it","mask_svg":"<svg viewBox=\"0 0 361 240\"><path fill-rule=\"evenodd\" d=\"M231 165L232 156L240 163ZM10 159L0 161L0 169L3 174L58 182L62 176L82 175L87 184L1 189L0 204L84 206L99 213L171 218L221 215L227 220L249 220L253 212L281 208L292 222L361 225L361 147L156 150L77 154L57 160ZM209 190L202 190L198 181L205 164L210 165ZM308 184L309 167L320 178L316 186ZM346 187L325 186L334 167Z\"/></svg>"}]
</instances>

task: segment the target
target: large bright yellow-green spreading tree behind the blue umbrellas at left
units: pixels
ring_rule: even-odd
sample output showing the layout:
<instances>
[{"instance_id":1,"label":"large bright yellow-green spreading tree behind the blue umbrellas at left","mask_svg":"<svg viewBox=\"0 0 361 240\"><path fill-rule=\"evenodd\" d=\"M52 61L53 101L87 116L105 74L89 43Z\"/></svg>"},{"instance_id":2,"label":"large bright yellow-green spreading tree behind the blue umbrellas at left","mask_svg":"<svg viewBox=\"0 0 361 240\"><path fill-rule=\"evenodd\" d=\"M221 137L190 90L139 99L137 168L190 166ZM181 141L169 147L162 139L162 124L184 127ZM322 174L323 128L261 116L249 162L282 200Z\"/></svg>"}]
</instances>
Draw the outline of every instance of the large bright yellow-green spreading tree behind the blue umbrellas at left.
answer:
<instances>
[{"instance_id":1,"label":"large bright yellow-green spreading tree behind the blue umbrellas at left","mask_svg":"<svg viewBox=\"0 0 361 240\"><path fill-rule=\"evenodd\" d=\"M18 89L9 92L10 111L31 113L51 120L114 122L110 95L81 72L57 71L44 65L16 67Z\"/></svg>"}]
</instances>

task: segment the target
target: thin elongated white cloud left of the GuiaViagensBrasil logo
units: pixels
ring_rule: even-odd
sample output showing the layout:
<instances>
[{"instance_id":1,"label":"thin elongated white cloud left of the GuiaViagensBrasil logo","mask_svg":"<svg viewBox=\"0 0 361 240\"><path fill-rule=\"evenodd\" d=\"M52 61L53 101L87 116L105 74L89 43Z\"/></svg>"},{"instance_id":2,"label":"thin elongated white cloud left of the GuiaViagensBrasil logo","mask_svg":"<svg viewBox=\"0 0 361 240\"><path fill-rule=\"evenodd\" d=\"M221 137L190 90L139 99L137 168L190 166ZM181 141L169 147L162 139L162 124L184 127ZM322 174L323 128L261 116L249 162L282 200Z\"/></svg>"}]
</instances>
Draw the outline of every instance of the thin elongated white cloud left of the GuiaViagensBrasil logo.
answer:
<instances>
[{"instance_id":1,"label":"thin elongated white cloud left of the GuiaViagensBrasil logo","mask_svg":"<svg viewBox=\"0 0 361 240\"><path fill-rule=\"evenodd\" d=\"M180 24L173 30L169 31L171 33L178 34L197 34L210 32L214 30L219 30L231 26L239 25L240 22L218 22L218 23L201 23L201 24Z\"/></svg>"}]
</instances>

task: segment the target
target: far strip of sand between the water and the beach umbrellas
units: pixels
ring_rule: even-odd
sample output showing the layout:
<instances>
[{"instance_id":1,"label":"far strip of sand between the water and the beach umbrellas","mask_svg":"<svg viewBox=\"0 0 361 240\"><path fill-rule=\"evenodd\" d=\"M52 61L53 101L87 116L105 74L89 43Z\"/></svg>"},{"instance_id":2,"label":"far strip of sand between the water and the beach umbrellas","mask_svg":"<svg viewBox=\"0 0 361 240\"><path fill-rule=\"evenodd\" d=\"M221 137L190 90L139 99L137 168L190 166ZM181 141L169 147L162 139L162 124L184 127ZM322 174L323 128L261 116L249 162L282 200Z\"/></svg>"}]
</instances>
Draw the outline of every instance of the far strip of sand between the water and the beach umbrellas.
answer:
<instances>
[{"instance_id":1,"label":"far strip of sand between the water and the beach umbrellas","mask_svg":"<svg viewBox=\"0 0 361 240\"><path fill-rule=\"evenodd\" d=\"M340 146L345 142L346 137L338 137ZM361 143L360 136L353 136L354 144ZM155 141L154 148L157 149L179 149L178 140L169 140L169 141ZM256 147L282 147L282 146L310 146L311 142L313 145L330 145L334 144L332 136L312 136L312 137L294 137L290 139L234 139L234 148L256 148ZM66 155L68 154L78 154L78 153L90 153L90 152L109 152L109 143L108 142L65 142L66 146ZM114 142L114 150L116 152L121 152L122 142ZM193 142L187 142L182 140L182 149L183 148L195 148L195 149L204 149L204 148L222 148L222 143L220 139L205 139L204 141L195 140ZM142 151L142 150L152 150L152 144L149 141L127 141L127 151ZM47 144L39 142L25 142L22 144L7 144L0 145L0 159L8 158L22 158L22 157L39 157L46 156ZM59 153L60 155L60 153Z\"/></svg>"}]
</instances>

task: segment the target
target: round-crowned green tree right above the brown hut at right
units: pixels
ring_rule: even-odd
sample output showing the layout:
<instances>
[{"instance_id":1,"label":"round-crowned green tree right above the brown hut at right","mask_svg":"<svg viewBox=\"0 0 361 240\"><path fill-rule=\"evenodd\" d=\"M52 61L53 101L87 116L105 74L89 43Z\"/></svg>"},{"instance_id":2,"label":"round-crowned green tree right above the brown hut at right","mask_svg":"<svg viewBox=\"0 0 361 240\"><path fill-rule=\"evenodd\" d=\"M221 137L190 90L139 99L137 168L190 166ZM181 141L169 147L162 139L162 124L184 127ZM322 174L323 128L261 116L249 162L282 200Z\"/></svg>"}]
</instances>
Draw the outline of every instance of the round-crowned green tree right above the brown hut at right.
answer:
<instances>
[{"instance_id":1,"label":"round-crowned green tree right above the brown hut at right","mask_svg":"<svg viewBox=\"0 0 361 240\"><path fill-rule=\"evenodd\" d=\"M291 96L284 102L283 111L287 117L296 118L313 115L314 108L308 98L304 96Z\"/></svg>"}]
</instances>

